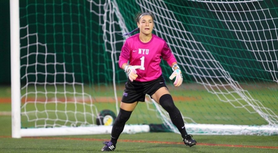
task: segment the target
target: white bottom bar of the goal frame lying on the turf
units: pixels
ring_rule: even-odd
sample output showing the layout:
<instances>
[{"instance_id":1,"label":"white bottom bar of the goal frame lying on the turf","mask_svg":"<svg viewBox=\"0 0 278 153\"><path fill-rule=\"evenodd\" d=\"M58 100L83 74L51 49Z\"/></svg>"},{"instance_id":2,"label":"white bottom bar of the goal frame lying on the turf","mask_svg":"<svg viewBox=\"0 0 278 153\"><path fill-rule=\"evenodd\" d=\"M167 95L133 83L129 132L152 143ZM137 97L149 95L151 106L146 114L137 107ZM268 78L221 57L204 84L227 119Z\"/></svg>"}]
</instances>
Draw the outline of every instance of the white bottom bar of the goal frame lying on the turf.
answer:
<instances>
[{"instance_id":1,"label":"white bottom bar of the goal frame lying on the turf","mask_svg":"<svg viewBox=\"0 0 278 153\"><path fill-rule=\"evenodd\" d=\"M278 135L278 127L271 125L220 125L220 124L185 124L187 132L194 135ZM65 136L111 134L112 125L27 128L20 129L20 137ZM150 132L149 125L125 125L123 133L135 134ZM155 131L152 131L155 132ZM174 131L179 133L178 130Z\"/></svg>"}]
</instances>

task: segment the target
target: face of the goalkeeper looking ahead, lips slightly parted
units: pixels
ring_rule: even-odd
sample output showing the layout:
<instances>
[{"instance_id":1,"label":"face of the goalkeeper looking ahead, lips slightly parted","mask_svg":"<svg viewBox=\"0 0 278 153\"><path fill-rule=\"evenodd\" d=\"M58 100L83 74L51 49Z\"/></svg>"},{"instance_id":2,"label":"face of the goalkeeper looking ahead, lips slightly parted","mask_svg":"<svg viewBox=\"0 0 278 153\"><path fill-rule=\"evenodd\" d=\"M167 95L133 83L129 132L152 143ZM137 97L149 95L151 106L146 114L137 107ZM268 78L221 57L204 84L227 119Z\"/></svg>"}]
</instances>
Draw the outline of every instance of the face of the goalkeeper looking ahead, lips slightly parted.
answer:
<instances>
[{"instance_id":1,"label":"face of the goalkeeper looking ahead, lips slightly parted","mask_svg":"<svg viewBox=\"0 0 278 153\"><path fill-rule=\"evenodd\" d=\"M145 35L150 35L154 28L154 20L150 15L144 15L137 23L138 28L140 28L140 32Z\"/></svg>"}]
</instances>

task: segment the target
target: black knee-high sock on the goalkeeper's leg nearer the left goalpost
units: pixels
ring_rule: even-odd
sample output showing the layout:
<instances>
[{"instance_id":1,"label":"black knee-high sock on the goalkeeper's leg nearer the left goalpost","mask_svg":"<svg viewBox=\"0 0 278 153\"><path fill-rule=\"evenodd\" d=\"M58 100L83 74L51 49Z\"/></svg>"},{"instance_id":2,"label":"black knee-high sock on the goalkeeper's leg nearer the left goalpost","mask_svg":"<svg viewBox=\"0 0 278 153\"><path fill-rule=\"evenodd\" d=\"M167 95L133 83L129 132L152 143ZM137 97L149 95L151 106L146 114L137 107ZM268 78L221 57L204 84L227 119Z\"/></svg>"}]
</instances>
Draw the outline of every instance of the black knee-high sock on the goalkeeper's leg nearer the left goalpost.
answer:
<instances>
[{"instance_id":1,"label":"black knee-high sock on the goalkeeper's leg nearer the left goalpost","mask_svg":"<svg viewBox=\"0 0 278 153\"><path fill-rule=\"evenodd\" d=\"M115 119L115 122L112 127L112 132L111 132L111 142L115 145L117 143L117 140L120 136L120 134L124 130L124 125L126 121L128 121L132 111L126 111L122 108L120 108L120 112L118 116Z\"/></svg>"}]
</instances>

